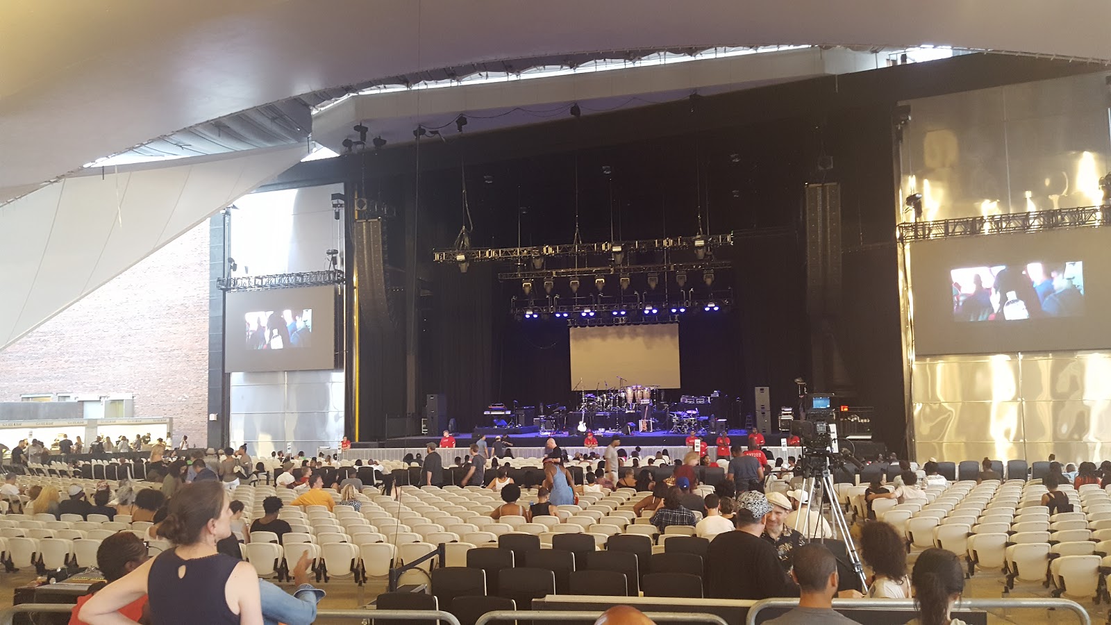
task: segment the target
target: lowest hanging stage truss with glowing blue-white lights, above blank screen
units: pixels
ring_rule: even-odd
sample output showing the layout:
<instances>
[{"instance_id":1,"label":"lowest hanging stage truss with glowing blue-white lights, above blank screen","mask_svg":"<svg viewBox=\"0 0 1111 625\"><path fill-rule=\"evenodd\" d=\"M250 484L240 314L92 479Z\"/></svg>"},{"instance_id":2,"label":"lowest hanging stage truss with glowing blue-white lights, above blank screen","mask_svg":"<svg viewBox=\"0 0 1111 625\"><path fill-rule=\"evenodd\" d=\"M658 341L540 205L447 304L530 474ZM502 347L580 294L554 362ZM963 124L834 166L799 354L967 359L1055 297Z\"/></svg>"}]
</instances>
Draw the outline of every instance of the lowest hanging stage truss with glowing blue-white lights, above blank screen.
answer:
<instances>
[{"instance_id":1,"label":"lowest hanging stage truss with glowing blue-white lights, above blank screen","mask_svg":"<svg viewBox=\"0 0 1111 625\"><path fill-rule=\"evenodd\" d=\"M697 298L657 299L648 296L560 296L517 298L510 314L520 321L563 321L571 326L673 324L691 315L720 315L733 305L732 289Z\"/></svg>"}]
</instances>

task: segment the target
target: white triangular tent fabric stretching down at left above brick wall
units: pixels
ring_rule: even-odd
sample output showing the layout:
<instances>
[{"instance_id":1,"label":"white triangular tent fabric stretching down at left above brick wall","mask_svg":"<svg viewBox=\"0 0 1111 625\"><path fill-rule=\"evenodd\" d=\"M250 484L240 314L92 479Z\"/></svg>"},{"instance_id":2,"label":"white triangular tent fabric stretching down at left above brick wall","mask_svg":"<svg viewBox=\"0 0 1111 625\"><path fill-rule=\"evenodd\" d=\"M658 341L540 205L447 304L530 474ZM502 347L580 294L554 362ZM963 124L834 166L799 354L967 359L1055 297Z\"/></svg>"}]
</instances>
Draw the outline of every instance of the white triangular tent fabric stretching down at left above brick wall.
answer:
<instances>
[{"instance_id":1,"label":"white triangular tent fabric stretching down at left above brick wall","mask_svg":"<svg viewBox=\"0 0 1111 625\"><path fill-rule=\"evenodd\" d=\"M0 348L304 157L301 145L98 169L0 208Z\"/></svg>"}]
</instances>

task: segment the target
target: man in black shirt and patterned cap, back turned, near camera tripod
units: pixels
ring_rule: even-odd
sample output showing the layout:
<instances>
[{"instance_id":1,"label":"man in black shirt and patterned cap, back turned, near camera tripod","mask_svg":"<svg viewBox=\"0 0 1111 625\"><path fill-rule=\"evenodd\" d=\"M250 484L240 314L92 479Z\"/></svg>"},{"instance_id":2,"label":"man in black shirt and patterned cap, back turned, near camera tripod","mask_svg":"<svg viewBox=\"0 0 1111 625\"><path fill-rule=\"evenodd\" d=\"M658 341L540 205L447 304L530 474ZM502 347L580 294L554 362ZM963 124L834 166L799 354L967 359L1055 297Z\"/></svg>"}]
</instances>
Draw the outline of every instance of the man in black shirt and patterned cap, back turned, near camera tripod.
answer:
<instances>
[{"instance_id":1,"label":"man in black shirt and patterned cap, back turned, near camera tripod","mask_svg":"<svg viewBox=\"0 0 1111 625\"><path fill-rule=\"evenodd\" d=\"M771 504L763 493L749 490L737 497L734 532L719 534L710 543L714 562L705 573L705 596L719 599L797 597L799 586L779 564L775 547L760 537Z\"/></svg>"}]
</instances>

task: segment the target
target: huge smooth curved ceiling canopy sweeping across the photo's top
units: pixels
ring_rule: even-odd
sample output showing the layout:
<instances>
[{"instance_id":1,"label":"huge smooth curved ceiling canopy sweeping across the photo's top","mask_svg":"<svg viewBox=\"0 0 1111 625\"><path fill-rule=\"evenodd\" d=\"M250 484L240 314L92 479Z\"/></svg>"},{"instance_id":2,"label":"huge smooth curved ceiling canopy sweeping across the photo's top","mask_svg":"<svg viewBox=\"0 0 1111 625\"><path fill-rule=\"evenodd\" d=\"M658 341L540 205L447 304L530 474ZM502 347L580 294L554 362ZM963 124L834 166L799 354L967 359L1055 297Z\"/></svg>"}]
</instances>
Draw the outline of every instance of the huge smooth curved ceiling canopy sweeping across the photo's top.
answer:
<instances>
[{"instance_id":1,"label":"huge smooth curved ceiling canopy sweeping across the photo's top","mask_svg":"<svg viewBox=\"0 0 1111 625\"><path fill-rule=\"evenodd\" d=\"M466 63L774 43L1111 59L1103 0L10 0L4 18L0 201L237 111Z\"/></svg>"}]
</instances>

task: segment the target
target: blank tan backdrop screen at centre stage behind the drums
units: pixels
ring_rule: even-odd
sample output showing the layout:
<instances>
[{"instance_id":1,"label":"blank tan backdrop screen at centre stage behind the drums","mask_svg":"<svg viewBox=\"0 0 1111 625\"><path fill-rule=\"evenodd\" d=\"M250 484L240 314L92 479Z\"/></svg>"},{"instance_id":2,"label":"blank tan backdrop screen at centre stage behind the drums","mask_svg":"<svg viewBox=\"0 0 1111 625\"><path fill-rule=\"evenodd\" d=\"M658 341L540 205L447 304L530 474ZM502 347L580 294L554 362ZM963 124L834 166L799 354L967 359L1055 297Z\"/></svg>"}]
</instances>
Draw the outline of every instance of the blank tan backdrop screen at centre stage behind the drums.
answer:
<instances>
[{"instance_id":1,"label":"blank tan backdrop screen at centre stage behind the drums","mask_svg":"<svg viewBox=\"0 0 1111 625\"><path fill-rule=\"evenodd\" d=\"M679 388L679 324L571 328L571 384Z\"/></svg>"}]
</instances>

